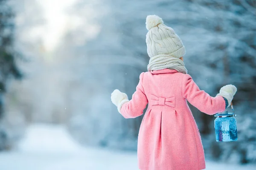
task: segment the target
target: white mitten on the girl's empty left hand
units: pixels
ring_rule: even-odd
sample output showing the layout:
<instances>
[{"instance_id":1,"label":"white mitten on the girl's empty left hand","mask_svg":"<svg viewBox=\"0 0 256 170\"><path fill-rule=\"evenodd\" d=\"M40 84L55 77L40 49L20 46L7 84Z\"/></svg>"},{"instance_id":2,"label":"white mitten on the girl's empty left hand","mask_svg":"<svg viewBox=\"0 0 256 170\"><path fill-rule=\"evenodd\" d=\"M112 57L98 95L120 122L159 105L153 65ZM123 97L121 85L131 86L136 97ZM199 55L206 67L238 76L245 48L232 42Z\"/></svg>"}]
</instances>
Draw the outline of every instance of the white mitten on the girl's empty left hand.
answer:
<instances>
[{"instance_id":1,"label":"white mitten on the girl's empty left hand","mask_svg":"<svg viewBox=\"0 0 256 170\"><path fill-rule=\"evenodd\" d=\"M114 90L111 94L111 101L114 105L117 106L117 110L119 111L119 113L122 108L122 105L126 102L129 102L127 94L122 93L117 89Z\"/></svg>"}]
</instances>

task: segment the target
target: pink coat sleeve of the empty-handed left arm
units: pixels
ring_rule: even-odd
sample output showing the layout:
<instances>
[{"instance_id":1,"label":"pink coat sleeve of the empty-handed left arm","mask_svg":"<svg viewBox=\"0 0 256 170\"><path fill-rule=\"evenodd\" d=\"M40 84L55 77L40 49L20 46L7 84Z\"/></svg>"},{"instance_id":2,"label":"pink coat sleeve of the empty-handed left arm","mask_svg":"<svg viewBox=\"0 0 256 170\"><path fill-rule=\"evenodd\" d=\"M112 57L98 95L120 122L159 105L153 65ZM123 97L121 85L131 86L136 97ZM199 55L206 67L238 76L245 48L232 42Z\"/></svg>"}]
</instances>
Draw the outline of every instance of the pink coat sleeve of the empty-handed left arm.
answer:
<instances>
[{"instance_id":1,"label":"pink coat sleeve of the empty-handed left arm","mask_svg":"<svg viewBox=\"0 0 256 170\"><path fill-rule=\"evenodd\" d=\"M144 73L140 74L140 82L132 95L132 99L129 102L125 102L120 109L120 113L126 119L142 115L143 110L148 104L148 99L143 88L143 75Z\"/></svg>"}]
</instances>

